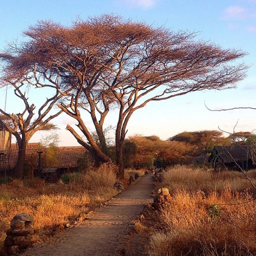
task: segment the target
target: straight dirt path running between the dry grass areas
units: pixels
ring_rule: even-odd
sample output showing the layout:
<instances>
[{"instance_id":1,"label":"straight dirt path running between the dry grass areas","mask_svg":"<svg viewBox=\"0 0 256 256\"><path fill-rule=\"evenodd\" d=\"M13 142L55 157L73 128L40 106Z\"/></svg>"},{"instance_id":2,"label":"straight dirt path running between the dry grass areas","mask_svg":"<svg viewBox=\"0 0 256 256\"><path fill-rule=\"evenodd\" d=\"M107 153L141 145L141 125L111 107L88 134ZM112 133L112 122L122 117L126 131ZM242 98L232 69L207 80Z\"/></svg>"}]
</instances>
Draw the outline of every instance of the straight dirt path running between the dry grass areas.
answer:
<instances>
[{"instance_id":1,"label":"straight dirt path running between the dry grass areas","mask_svg":"<svg viewBox=\"0 0 256 256\"><path fill-rule=\"evenodd\" d=\"M117 256L122 254L125 236L133 226L145 204L151 203L152 175L143 175L93 212L89 219L67 230L50 244L30 248L26 256ZM126 254L128 255L128 254Z\"/></svg>"}]
</instances>

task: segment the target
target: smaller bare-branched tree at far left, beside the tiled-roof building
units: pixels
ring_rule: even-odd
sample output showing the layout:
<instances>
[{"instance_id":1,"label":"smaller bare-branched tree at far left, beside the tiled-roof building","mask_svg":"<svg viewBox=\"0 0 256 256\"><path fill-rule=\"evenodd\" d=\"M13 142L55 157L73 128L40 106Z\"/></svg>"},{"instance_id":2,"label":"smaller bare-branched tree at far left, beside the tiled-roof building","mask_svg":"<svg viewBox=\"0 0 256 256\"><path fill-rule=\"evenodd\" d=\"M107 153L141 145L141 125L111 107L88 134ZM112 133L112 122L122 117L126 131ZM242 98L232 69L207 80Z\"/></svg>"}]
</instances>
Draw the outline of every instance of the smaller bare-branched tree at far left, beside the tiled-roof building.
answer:
<instances>
[{"instance_id":1,"label":"smaller bare-branched tree at far left, beside the tiled-roof building","mask_svg":"<svg viewBox=\"0 0 256 256\"><path fill-rule=\"evenodd\" d=\"M4 79L3 79L4 81ZM21 99L24 103L23 112L20 113L7 113L3 109L0 109L0 126L6 131L9 131L15 136L18 145L18 157L15 165L15 178L23 178L24 176L24 164L26 159L26 148L31 137L37 131L50 131L57 129L57 127L50 123L50 120L58 116L62 111L58 110L56 113L49 115L56 102L61 98L58 95L58 91L52 98L46 99L46 101L38 109L38 113L35 115L35 105L29 104L28 98L26 97L26 90L23 90L25 81L7 81L5 80L6 86L12 86L14 89L15 96ZM9 89L10 90L10 89Z\"/></svg>"}]
</instances>

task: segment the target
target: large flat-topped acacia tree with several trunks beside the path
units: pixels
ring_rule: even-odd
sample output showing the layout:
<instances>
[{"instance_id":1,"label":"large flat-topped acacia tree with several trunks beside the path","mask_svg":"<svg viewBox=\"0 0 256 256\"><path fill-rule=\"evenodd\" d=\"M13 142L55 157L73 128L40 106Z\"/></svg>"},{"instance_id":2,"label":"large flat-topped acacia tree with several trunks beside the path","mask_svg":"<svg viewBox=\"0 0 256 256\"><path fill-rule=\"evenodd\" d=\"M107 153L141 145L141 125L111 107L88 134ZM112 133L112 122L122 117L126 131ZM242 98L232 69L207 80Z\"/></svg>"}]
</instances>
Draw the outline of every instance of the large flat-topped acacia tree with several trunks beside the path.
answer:
<instances>
[{"instance_id":1,"label":"large flat-topped acacia tree with several trunks beside the path","mask_svg":"<svg viewBox=\"0 0 256 256\"><path fill-rule=\"evenodd\" d=\"M78 20L69 27L41 21L24 34L29 37L26 43L7 52L15 56L9 70L29 67L35 86L58 88L65 96L59 107L77 120L86 140L70 125L67 129L102 161L110 160L105 119L116 109L119 176L123 175L122 144L134 111L151 101L234 87L246 69L244 64L232 64L244 56L240 50L196 41L195 33L173 32L113 15ZM81 112L92 120L100 145Z\"/></svg>"}]
</instances>

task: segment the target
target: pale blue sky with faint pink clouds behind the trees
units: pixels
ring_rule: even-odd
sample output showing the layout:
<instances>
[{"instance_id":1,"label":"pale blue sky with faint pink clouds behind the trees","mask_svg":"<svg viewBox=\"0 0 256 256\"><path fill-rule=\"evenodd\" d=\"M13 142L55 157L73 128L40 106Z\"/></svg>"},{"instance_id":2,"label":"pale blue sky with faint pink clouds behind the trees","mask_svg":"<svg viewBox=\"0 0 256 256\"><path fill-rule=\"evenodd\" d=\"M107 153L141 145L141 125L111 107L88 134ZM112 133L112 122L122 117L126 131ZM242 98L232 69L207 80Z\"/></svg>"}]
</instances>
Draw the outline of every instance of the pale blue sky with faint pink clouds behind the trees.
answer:
<instances>
[{"instance_id":1,"label":"pale blue sky with faint pink clouds behind the trees","mask_svg":"<svg viewBox=\"0 0 256 256\"><path fill-rule=\"evenodd\" d=\"M218 130L233 132L256 129L256 111L234 110L211 112L209 108L256 107L256 0L0 0L0 50L7 42L22 40L22 32L38 20L54 20L71 25L79 16L105 13L124 18L143 20L153 26L165 26L175 31L199 32L198 39L219 44L222 48L242 49L248 53L243 61L252 65L247 78L236 89L195 92L164 102L152 102L134 113L128 124L128 136L157 135L166 140L182 131ZM38 95L34 95L38 101ZM31 96L32 98L32 96ZM33 100L33 99L31 99ZM6 111L19 112L11 93L7 96ZM0 108L4 108L5 91L0 90ZM111 115L114 124L116 115ZM59 131L59 145L78 145L65 130L73 120L62 115L54 121ZM37 142L45 134L35 135ZM15 141L12 141L15 143Z\"/></svg>"}]
</instances>

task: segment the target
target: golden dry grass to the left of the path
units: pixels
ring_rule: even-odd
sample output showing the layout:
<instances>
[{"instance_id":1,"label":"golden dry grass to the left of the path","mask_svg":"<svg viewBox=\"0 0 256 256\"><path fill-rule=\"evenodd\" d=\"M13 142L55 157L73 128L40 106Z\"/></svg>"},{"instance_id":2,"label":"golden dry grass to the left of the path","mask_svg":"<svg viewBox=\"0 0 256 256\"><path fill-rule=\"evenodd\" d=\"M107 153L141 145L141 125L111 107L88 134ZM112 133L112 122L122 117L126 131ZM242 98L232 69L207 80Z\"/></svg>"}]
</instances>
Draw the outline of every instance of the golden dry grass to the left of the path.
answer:
<instances>
[{"instance_id":1,"label":"golden dry grass to the left of the path","mask_svg":"<svg viewBox=\"0 0 256 256\"><path fill-rule=\"evenodd\" d=\"M10 220L17 213L34 217L34 228L47 232L52 226L65 224L88 207L116 195L113 169L79 173L68 184L51 185L43 180L14 180L0 185L0 247Z\"/></svg>"}]
</instances>

